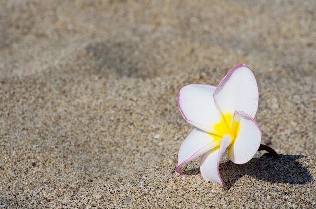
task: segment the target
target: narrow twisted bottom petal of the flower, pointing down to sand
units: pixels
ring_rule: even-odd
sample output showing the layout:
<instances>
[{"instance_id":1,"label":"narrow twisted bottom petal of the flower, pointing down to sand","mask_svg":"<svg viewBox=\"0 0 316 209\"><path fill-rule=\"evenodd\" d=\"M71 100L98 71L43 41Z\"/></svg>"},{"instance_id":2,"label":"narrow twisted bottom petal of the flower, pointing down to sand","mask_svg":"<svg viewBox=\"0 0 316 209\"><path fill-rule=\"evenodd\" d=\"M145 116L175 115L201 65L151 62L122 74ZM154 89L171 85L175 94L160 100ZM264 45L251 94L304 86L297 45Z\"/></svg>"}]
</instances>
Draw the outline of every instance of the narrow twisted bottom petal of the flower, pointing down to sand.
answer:
<instances>
[{"instance_id":1,"label":"narrow twisted bottom petal of the flower, pointing down to sand","mask_svg":"<svg viewBox=\"0 0 316 209\"><path fill-rule=\"evenodd\" d=\"M230 145L232 138L230 135L223 136L220 147L216 147L203 155L200 164L200 171L206 181L218 183L224 186L220 176L219 165L224 151Z\"/></svg>"}]
</instances>

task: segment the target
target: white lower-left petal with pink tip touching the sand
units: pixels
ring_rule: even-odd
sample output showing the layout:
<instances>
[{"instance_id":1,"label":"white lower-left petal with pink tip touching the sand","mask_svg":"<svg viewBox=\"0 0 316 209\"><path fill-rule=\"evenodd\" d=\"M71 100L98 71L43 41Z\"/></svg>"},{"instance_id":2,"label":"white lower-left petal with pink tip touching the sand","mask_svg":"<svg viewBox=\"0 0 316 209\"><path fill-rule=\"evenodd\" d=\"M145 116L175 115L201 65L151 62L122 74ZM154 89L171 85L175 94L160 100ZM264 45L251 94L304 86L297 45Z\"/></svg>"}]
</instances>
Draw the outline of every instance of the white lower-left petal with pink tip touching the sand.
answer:
<instances>
[{"instance_id":1,"label":"white lower-left petal with pink tip touching the sand","mask_svg":"<svg viewBox=\"0 0 316 209\"><path fill-rule=\"evenodd\" d=\"M219 146L219 141L200 129L193 129L180 146L176 171L182 174L180 167L183 164L193 161L208 150Z\"/></svg>"}]
</instances>

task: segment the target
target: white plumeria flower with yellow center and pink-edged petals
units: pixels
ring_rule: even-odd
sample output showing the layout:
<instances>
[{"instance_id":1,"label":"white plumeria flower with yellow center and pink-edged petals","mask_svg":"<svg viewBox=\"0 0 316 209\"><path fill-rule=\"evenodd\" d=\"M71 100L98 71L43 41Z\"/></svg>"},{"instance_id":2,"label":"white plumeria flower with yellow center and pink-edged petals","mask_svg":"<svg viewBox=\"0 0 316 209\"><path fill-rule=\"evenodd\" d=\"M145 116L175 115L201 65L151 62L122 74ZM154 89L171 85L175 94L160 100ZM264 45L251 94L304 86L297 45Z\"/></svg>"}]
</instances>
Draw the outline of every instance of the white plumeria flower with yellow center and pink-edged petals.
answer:
<instances>
[{"instance_id":1,"label":"white plumeria flower with yellow center and pink-edged petals","mask_svg":"<svg viewBox=\"0 0 316 209\"><path fill-rule=\"evenodd\" d=\"M206 181L224 186L219 163L228 148L230 160L248 162L258 151L262 132L254 121L258 109L258 86L250 68L241 64L232 68L215 86L191 84L178 94L178 107L184 119L195 129L182 142L176 171L203 155L200 171Z\"/></svg>"}]
</instances>

